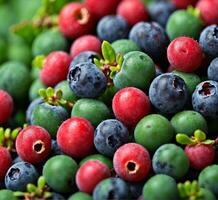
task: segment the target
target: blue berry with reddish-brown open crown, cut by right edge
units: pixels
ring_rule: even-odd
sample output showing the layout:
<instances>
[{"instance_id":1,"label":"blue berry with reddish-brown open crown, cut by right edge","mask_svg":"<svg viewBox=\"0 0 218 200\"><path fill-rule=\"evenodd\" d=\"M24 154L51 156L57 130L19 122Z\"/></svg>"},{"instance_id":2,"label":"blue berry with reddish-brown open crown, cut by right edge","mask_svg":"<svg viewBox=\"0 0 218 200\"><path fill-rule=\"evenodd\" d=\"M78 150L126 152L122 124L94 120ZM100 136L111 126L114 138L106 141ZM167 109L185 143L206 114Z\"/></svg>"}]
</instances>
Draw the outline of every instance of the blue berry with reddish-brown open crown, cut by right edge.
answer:
<instances>
[{"instance_id":1,"label":"blue berry with reddish-brown open crown, cut by right edge","mask_svg":"<svg viewBox=\"0 0 218 200\"><path fill-rule=\"evenodd\" d=\"M197 85L192 94L195 111L208 117L218 117L218 82L204 81Z\"/></svg>"}]
</instances>

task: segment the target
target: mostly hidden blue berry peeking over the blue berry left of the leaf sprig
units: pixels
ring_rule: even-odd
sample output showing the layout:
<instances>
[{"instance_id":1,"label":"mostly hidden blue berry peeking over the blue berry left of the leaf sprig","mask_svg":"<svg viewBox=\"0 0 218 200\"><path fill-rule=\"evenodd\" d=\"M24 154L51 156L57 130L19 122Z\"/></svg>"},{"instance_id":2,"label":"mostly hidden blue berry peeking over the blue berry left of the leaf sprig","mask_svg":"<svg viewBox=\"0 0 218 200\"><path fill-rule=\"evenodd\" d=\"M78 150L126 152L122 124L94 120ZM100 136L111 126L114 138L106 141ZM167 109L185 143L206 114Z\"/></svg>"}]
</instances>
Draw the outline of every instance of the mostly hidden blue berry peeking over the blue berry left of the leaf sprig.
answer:
<instances>
[{"instance_id":1,"label":"mostly hidden blue berry peeking over the blue berry left of the leaf sprig","mask_svg":"<svg viewBox=\"0 0 218 200\"><path fill-rule=\"evenodd\" d=\"M71 69L73 66L82 63L82 62L90 62L94 63L94 58L100 58L100 55L94 51L84 51L78 54L70 63Z\"/></svg>"}]
</instances>

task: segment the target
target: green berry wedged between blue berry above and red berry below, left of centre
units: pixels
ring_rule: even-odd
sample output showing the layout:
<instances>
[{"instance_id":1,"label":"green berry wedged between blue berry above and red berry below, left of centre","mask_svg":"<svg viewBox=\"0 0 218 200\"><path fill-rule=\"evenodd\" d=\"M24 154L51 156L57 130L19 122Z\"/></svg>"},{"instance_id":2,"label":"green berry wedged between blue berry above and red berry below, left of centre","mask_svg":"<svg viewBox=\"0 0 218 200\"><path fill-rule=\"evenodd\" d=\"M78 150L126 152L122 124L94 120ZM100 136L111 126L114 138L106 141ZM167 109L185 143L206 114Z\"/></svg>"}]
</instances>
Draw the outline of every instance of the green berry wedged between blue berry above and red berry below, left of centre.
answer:
<instances>
[{"instance_id":1,"label":"green berry wedged between blue berry above and red berry below, left of centre","mask_svg":"<svg viewBox=\"0 0 218 200\"><path fill-rule=\"evenodd\" d=\"M88 119L94 126L110 117L107 106L95 99L80 99L73 106L71 117L78 116Z\"/></svg>"}]
</instances>

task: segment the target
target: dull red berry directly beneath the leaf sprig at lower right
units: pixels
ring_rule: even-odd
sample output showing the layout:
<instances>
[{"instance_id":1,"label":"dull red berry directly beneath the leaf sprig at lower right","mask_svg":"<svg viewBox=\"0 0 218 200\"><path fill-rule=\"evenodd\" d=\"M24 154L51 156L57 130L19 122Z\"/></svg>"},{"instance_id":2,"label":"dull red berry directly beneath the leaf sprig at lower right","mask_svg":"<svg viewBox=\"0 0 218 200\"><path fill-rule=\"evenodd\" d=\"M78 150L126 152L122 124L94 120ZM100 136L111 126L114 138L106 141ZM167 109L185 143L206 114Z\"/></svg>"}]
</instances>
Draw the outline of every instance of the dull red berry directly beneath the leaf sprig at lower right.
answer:
<instances>
[{"instance_id":1,"label":"dull red berry directly beneath the leaf sprig at lower right","mask_svg":"<svg viewBox=\"0 0 218 200\"><path fill-rule=\"evenodd\" d=\"M197 170L211 165L215 159L215 150L212 145L187 145L185 153L189 158L190 166Z\"/></svg>"}]
</instances>

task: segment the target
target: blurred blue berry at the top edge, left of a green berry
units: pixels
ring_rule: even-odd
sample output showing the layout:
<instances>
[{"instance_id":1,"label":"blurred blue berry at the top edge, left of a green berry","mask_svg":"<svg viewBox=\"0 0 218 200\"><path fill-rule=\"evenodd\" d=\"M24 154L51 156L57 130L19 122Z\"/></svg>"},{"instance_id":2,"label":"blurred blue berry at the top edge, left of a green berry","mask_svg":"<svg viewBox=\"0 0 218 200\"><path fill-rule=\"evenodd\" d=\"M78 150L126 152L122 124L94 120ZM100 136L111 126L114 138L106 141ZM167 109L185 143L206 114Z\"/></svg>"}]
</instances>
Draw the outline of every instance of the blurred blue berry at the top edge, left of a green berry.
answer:
<instances>
[{"instance_id":1,"label":"blurred blue berry at the top edge, left of a green berry","mask_svg":"<svg viewBox=\"0 0 218 200\"><path fill-rule=\"evenodd\" d=\"M169 16L176 10L175 6L167 1L152 3L148 8L151 20L159 23L162 27L166 26Z\"/></svg>"}]
</instances>

